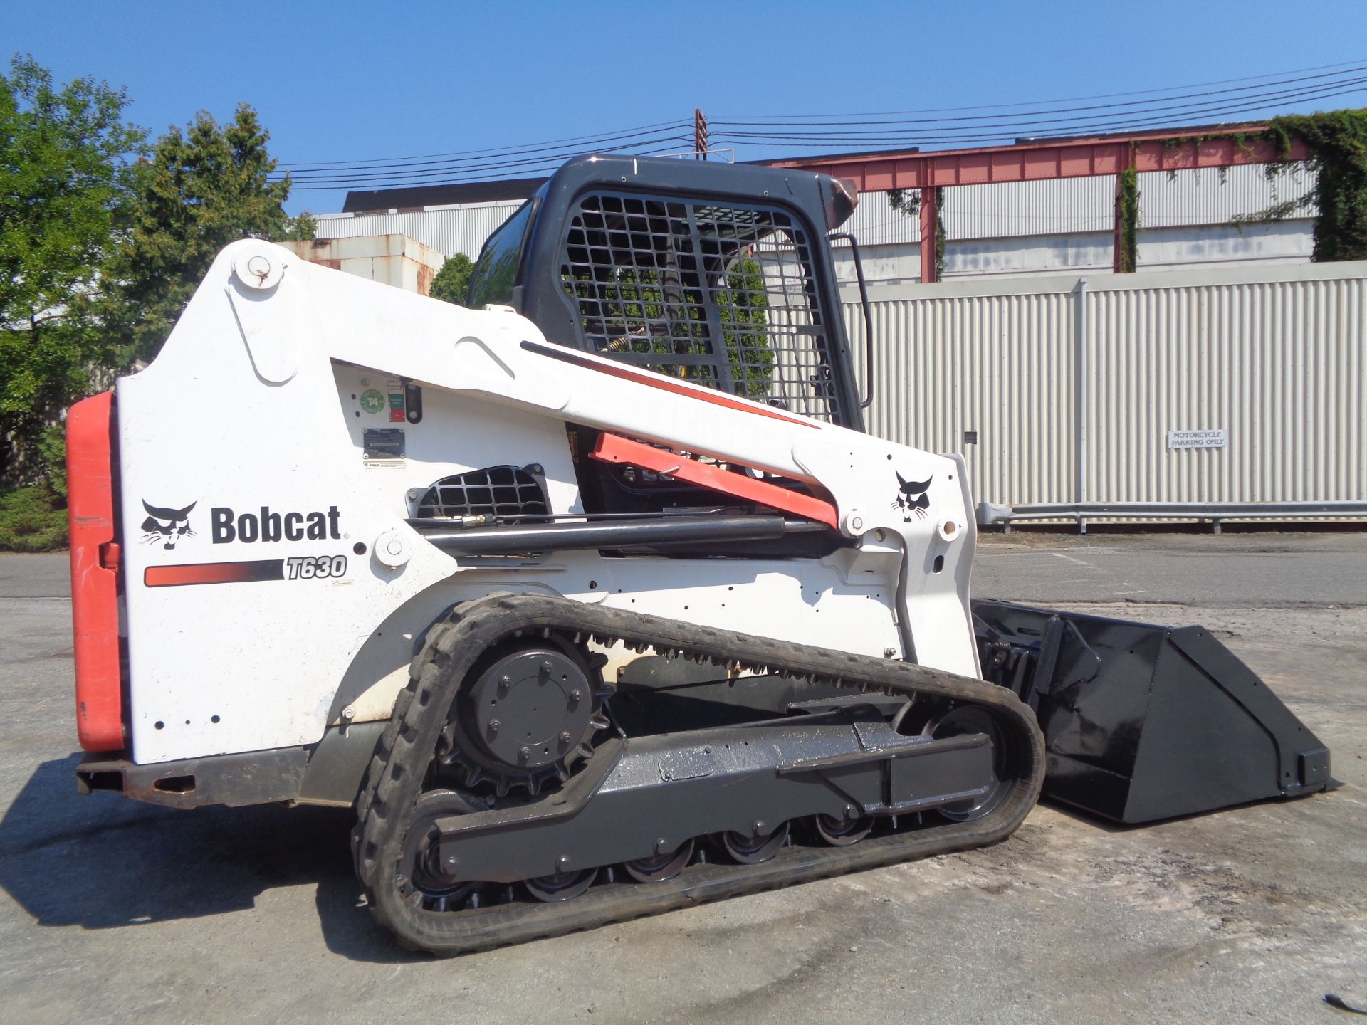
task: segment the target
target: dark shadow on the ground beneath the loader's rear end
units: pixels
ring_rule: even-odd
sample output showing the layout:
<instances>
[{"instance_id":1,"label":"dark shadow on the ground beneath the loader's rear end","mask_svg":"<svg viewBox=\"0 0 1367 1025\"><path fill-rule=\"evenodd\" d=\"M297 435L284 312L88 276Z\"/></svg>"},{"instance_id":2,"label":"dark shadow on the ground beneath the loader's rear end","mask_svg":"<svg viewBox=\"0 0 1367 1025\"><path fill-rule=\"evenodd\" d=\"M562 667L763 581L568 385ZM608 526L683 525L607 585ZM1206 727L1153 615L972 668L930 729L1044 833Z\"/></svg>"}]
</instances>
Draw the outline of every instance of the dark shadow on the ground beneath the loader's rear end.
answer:
<instances>
[{"instance_id":1,"label":"dark shadow on the ground beneath the loader's rear end","mask_svg":"<svg viewBox=\"0 0 1367 1025\"><path fill-rule=\"evenodd\" d=\"M45 761L0 820L0 888L38 925L115 929L254 906L317 884L329 950L414 959L370 918L350 857L350 809L258 805L178 810L116 794L81 797L79 754Z\"/></svg>"}]
</instances>

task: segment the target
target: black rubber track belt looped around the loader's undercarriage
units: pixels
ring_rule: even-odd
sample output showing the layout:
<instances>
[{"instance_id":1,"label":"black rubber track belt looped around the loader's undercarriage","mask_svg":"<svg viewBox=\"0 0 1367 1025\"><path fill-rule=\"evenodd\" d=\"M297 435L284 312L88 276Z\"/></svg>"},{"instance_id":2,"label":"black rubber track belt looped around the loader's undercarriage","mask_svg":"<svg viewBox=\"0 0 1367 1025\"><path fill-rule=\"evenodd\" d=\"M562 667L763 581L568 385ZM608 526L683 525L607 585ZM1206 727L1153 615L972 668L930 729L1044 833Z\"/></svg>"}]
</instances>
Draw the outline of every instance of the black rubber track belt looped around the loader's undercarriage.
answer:
<instances>
[{"instance_id":1,"label":"black rubber track belt looped around the loader's undercarriage","mask_svg":"<svg viewBox=\"0 0 1367 1025\"><path fill-rule=\"evenodd\" d=\"M711 660L863 692L931 696L988 705L1013 731L1018 760L1006 800L983 819L871 836L849 847L785 849L759 865L694 865L664 883L595 886L563 903L510 903L437 913L405 901L395 884L405 812L417 801L446 723L470 667L489 645L511 636L555 631L577 640L653 648L666 656ZM716 630L659 616L539 594L498 594L459 605L432 627L409 667L357 802L351 835L357 875L376 918L406 947L450 955L558 936L576 929L658 914L704 901L774 890L856 869L980 847L1009 836L1025 819L1044 779L1044 742L1029 708L1005 687L891 659Z\"/></svg>"}]
</instances>

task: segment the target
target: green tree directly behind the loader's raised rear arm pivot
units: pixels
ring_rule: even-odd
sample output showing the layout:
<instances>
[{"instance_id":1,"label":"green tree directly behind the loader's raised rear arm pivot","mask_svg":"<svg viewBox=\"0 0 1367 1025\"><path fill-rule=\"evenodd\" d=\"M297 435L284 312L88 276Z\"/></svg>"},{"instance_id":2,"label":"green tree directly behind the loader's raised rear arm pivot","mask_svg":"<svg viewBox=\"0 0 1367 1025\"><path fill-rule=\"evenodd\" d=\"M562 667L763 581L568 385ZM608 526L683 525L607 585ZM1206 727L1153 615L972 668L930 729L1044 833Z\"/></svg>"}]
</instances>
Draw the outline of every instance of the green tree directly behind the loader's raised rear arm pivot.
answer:
<instances>
[{"instance_id":1,"label":"green tree directly behind the loader's raised rear arm pivot","mask_svg":"<svg viewBox=\"0 0 1367 1025\"><path fill-rule=\"evenodd\" d=\"M284 212L290 176L272 180L271 135L242 104L220 126L200 112L157 139L137 168L128 232L105 273L105 323L120 362L152 359L213 257L241 238L312 238L313 219Z\"/></svg>"}]
</instances>

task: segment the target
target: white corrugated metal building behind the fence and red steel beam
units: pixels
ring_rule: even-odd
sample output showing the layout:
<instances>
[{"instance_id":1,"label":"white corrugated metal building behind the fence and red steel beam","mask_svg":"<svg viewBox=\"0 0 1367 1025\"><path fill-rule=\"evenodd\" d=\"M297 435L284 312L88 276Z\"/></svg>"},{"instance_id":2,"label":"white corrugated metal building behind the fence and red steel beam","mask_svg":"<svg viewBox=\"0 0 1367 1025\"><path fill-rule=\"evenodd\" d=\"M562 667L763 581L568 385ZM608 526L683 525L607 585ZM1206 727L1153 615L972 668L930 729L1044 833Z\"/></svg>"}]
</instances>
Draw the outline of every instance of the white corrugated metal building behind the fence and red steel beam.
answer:
<instances>
[{"instance_id":1,"label":"white corrugated metal building behind the fence and red steel beam","mask_svg":"<svg viewBox=\"0 0 1367 1025\"><path fill-rule=\"evenodd\" d=\"M1221 266L1244 262L1307 262L1311 253L1314 208L1303 205L1278 224L1236 227L1282 200L1305 195L1314 175L1303 165L1278 165L1269 178L1263 165L1217 171L1155 172L1140 176L1139 268ZM433 190L370 193L353 197L347 213L317 217L319 238L401 234L451 257L478 254L493 230L529 195L539 179L498 183L515 186L513 197L468 202L428 202L405 208L406 201L436 195ZM491 184L491 183L484 183ZM452 198L466 193L488 195L488 189L450 186ZM439 198L442 198L439 195ZM380 210L370 204L395 204ZM1114 179L1070 178L1043 182L960 186L945 190L946 279L1020 273L1076 273L1106 271L1111 265ZM920 227L915 216L889 205L887 193L864 193L845 227L860 241L865 275L871 282L920 280L916 246ZM849 261L839 262L842 280L853 280Z\"/></svg>"}]
</instances>

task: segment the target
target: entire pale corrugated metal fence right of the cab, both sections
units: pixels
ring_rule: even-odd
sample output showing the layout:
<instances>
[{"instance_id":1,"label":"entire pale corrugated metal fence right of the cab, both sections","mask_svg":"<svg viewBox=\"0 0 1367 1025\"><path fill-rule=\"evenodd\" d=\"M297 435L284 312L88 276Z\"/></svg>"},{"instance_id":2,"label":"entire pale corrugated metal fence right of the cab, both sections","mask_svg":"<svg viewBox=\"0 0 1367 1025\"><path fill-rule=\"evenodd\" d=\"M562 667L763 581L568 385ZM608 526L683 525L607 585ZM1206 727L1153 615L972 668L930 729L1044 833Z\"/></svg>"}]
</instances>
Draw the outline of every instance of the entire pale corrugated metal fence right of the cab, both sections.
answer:
<instances>
[{"instance_id":1,"label":"entire pale corrugated metal fence right of the cab, both sections","mask_svg":"<svg viewBox=\"0 0 1367 1025\"><path fill-rule=\"evenodd\" d=\"M964 452L979 502L1367 500L1367 262L1079 280L871 288L869 430Z\"/></svg>"}]
</instances>

